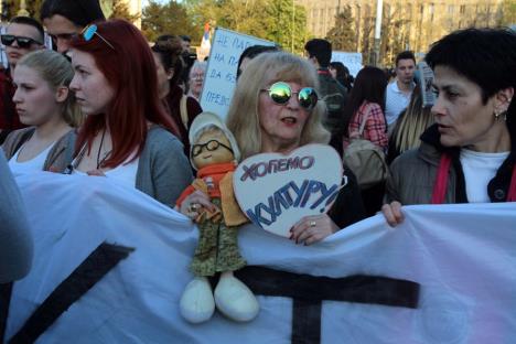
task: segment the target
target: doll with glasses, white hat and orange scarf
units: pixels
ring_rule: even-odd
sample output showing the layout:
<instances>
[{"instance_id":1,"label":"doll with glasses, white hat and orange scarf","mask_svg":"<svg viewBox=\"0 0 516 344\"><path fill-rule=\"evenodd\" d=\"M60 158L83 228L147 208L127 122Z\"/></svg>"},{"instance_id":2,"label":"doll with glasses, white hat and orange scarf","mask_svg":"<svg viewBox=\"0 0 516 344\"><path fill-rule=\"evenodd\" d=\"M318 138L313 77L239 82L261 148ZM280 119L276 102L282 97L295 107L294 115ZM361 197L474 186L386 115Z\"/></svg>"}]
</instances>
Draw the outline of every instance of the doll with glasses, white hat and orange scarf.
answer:
<instances>
[{"instance_id":1,"label":"doll with glasses, white hat and orange scarf","mask_svg":"<svg viewBox=\"0 0 516 344\"><path fill-rule=\"evenodd\" d=\"M190 266L194 279L181 298L181 314L189 322L201 323L212 316L216 305L232 320L250 321L258 314L258 301L233 276L233 271L246 265L238 251L237 235L238 226L247 222L233 192L233 171L240 158L236 140L218 116L211 112L195 118L189 139L190 160L197 170L197 179L176 205L197 224L200 236ZM198 192L209 197L208 204L195 201L194 193ZM221 277L212 292L208 277L218 272Z\"/></svg>"}]
</instances>

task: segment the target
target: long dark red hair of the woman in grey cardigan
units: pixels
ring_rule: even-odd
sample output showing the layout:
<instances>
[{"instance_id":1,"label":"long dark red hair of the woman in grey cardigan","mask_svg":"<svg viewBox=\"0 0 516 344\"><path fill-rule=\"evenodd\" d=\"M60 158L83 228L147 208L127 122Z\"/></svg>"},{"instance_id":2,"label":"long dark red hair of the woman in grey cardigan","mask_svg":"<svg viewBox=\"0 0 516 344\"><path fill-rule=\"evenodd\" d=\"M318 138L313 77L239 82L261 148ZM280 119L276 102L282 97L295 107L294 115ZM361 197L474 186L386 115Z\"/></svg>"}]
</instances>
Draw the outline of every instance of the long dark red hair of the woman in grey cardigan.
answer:
<instances>
[{"instance_id":1,"label":"long dark red hair of the woman in grey cardigan","mask_svg":"<svg viewBox=\"0 0 516 344\"><path fill-rule=\"evenodd\" d=\"M92 148L93 138L107 125L112 151L103 166L116 168L135 150L135 159L140 155L147 138L147 121L164 127L176 137L180 133L159 99L154 58L140 31L125 20L109 20L96 25L98 34L114 49L97 35L89 41L79 36L72 42L72 47L94 57L98 69L114 88L115 96L106 114L86 118L75 152L77 154L84 144Z\"/></svg>"}]
</instances>

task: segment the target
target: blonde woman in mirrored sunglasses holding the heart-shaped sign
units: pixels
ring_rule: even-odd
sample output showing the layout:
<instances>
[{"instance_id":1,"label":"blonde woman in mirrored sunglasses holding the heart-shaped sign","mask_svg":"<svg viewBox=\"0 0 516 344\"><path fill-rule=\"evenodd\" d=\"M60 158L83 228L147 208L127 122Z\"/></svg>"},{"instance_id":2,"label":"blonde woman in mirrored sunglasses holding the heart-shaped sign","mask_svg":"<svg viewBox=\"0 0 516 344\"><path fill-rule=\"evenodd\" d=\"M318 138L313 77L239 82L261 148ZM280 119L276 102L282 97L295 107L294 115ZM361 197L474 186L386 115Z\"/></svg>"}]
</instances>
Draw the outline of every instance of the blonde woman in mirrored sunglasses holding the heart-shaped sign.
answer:
<instances>
[{"instance_id":1,"label":"blonde woman in mirrored sunglasses holding the heart-shaped sign","mask_svg":"<svg viewBox=\"0 0 516 344\"><path fill-rule=\"evenodd\" d=\"M330 133L318 103L316 71L289 53L261 54L238 79L227 125L240 147L243 159L265 152L289 153L308 143L324 143ZM355 175L344 169L347 184L327 214L305 216L291 228L291 239L311 245L365 217ZM202 194L185 202L208 205Z\"/></svg>"}]
</instances>

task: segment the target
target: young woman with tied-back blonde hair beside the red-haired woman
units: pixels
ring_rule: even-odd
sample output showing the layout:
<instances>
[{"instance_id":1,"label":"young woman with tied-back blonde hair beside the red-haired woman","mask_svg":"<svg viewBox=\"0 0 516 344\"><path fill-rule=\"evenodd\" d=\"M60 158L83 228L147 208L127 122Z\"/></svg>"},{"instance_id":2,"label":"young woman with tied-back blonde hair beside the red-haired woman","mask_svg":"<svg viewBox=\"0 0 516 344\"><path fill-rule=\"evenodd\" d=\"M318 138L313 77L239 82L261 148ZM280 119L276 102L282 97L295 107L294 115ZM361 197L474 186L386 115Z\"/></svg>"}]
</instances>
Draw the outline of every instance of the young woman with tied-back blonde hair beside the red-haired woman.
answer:
<instances>
[{"instance_id":1,"label":"young woman with tied-back blonde hair beside the red-haired woman","mask_svg":"<svg viewBox=\"0 0 516 344\"><path fill-rule=\"evenodd\" d=\"M18 62L13 96L20 121L29 128L11 132L2 148L14 175L34 171L63 172L72 161L74 128L82 115L68 85L74 77L60 53L42 50Z\"/></svg>"}]
</instances>

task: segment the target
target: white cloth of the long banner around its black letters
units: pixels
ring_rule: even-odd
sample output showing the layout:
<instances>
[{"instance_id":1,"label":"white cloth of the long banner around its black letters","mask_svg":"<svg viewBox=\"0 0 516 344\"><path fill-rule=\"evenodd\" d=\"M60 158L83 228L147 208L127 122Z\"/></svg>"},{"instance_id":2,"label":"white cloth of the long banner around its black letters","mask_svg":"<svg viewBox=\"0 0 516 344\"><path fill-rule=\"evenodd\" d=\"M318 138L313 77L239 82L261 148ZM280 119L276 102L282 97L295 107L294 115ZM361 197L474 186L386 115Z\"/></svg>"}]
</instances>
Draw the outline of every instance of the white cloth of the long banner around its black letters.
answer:
<instances>
[{"instance_id":1,"label":"white cloth of the long banner around its black letters","mask_svg":"<svg viewBox=\"0 0 516 344\"><path fill-rule=\"evenodd\" d=\"M289 343L292 300L258 297L260 313L186 323L190 221L107 178L18 179L35 240L30 275L14 283L7 338L100 243L136 250L64 312L36 343ZM516 203L411 206L396 229L375 216L313 246L251 225L249 265L312 276L373 275L420 283L417 309L323 301L322 343L514 343Z\"/></svg>"}]
</instances>

